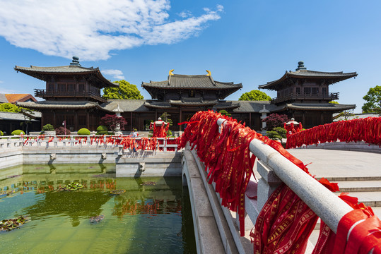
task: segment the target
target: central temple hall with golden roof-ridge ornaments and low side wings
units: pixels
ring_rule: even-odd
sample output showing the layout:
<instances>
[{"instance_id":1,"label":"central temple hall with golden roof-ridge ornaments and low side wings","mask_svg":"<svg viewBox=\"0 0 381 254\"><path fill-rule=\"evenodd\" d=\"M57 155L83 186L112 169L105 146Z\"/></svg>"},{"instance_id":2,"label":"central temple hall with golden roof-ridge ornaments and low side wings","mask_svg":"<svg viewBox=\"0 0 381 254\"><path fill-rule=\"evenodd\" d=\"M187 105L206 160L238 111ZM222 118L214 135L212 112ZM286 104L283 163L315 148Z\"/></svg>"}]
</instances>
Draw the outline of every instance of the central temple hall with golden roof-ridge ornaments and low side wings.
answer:
<instances>
[{"instance_id":1,"label":"central temple hall with golden roof-ridge ornaments and low side wings","mask_svg":"<svg viewBox=\"0 0 381 254\"><path fill-rule=\"evenodd\" d=\"M158 119L164 112L170 114L172 131L182 131L177 123L189 120L197 111L225 109L235 119L246 123L254 130L260 130L262 123L259 111L263 104L274 107L269 102L243 102L225 100L225 97L242 88L242 84L225 83L212 78L211 72L205 75L180 75L170 71L167 80L143 82L141 86L152 99L107 99L102 104L107 110L119 107L129 128L148 131L151 120ZM165 120L165 119L163 119Z\"/></svg>"}]
</instances>

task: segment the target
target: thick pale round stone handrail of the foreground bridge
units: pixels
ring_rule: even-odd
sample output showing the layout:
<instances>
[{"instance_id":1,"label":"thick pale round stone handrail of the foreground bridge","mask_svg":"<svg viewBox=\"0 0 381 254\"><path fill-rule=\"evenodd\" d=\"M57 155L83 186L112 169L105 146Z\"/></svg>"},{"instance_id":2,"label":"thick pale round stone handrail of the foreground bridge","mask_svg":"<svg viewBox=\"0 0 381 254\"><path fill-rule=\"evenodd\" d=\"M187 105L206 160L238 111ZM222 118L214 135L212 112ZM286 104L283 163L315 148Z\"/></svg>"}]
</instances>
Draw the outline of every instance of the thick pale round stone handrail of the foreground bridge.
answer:
<instances>
[{"instance_id":1,"label":"thick pale round stone handrail of the foreground bridge","mask_svg":"<svg viewBox=\"0 0 381 254\"><path fill-rule=\"evenodd\" d=\"M221 126L224 121L218 119L217 123ZM262 141L252 140L250 151L259 159L257 168L262 176L258 183L258 211L283 181L336 233L341 217L353 210L346 202ZM250 214L248 208L250 218L257 218L258 214Z\"/></svg>"}]
</instances>

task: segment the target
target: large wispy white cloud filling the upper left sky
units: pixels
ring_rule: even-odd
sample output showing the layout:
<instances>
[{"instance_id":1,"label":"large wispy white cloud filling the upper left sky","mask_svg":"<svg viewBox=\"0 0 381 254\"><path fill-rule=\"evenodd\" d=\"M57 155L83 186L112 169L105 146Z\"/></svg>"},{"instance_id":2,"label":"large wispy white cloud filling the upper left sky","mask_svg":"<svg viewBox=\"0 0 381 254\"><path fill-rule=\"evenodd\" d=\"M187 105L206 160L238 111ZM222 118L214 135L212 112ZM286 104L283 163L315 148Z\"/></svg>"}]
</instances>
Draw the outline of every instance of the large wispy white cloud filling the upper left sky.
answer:
<instances>
[{"instance_id":1,"label":"large wispy white cloud filling the upper left sky","mask_svg":"<svg viewBox=\"0 0 381 254\"><path fill-rule=\"evenodd\" d=\"M0 36L52 56L108 59L110 51L185 40L221 18L217 11L170 20L169 0L0 0ZM189 16L186 13L189 14Z\"/></svg>"}]
</instances>

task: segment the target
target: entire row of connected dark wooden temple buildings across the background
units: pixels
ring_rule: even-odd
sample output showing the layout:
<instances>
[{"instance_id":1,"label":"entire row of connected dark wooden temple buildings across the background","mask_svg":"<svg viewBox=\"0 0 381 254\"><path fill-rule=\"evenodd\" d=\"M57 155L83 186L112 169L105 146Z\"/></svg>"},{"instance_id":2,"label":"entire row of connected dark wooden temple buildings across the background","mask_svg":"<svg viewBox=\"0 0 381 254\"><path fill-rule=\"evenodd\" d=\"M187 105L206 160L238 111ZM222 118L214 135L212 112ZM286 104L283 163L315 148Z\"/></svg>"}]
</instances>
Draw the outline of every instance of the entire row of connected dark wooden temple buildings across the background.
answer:
<instances>
[{"instance_id":1,"label":"entire row of connected dark wooden temple buildings across the background","mask_svg":"<svg viewBox=\"0 0 381 254\"><path fill-rule=\"evenodd\" d=\"M329 92L329 85L355 77L356 73L308 71L303 62L299 62L295 72L286 72L279 80L259 86L278 92L271 102L225 100L240 90L242 84L216 81L210 71L205 75L180 75L171 70L167 80L143 82L141 86L151 99L105 99L100 90L118 84L103 77L99 68L82 67L76 56L69 66L16 66L15 70L45 81L45 89L35 89L35 96L45 100L18 102L17 105L40 111L41 126L50 123L57 128L66 121L66 128L71 131L80 128L95 131L100 118L115 114L113 110L118 106L127 120L127 131L132 128L148 130L149 123L164 112L172 119L170 129L182 131L183 126L177 123L187 121L197 111L208 109L225 109L255 131L261 131L261 116L271 112L288 114L310 128L332 122L335 112L356 107L329 103L339 98L339 93Z\"/></svg>"}]
</instances>

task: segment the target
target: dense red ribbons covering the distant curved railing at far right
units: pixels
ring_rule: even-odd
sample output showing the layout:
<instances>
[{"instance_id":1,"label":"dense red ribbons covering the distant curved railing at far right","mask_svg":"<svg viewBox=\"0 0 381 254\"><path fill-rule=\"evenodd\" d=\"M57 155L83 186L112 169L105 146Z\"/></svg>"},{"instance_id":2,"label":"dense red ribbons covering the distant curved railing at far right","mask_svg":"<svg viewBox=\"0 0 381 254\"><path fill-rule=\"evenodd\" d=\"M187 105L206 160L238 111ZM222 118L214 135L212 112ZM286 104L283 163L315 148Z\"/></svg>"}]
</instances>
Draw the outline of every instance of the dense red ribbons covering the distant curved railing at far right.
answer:
<instances>
[{"instance_id":1,"label":"dense red ribbons covering the distant curved railing at far right","mask_svg":"<svg viewBox=\"0 0 381 254\"><path fill-rule=\"evenodd\" d=\"M295 148L337 140L347 143L363 140L365 143L381 146L381 117L337 121L315 126L288 135L286 147Z\"/></svg>"}]
</instances>

